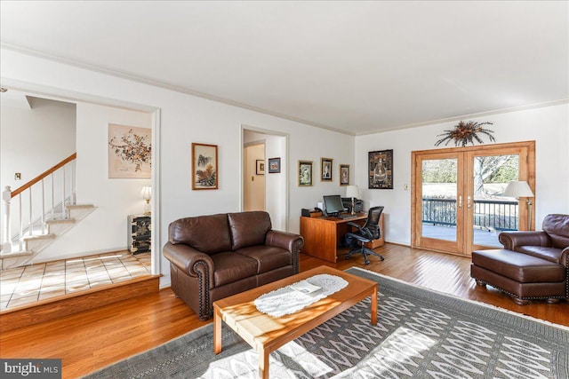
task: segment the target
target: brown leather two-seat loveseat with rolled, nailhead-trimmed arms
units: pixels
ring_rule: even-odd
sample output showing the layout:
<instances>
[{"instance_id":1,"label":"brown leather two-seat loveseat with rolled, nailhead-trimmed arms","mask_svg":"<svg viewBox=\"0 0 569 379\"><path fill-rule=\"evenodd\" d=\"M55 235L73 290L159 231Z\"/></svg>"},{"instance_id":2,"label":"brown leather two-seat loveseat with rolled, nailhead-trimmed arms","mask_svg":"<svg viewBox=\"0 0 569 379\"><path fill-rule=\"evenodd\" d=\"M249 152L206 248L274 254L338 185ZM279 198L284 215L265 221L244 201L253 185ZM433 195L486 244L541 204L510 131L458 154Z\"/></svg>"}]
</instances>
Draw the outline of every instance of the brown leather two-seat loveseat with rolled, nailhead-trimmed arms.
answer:
<instances>
[{"instance_id":1,"label":"brown leather two-seat loveseat with rolled, nailhead-trimmed arms","mask_svg":"<svg viewBox=\"0 0 569 379\"><path fill-rule=\"evenodd\" d=\"M172 290L200 320L212 318L220 298L299 272L304 240L272 230L267 212L180 218L168 232Z\"/></svg>"}]
</instances>

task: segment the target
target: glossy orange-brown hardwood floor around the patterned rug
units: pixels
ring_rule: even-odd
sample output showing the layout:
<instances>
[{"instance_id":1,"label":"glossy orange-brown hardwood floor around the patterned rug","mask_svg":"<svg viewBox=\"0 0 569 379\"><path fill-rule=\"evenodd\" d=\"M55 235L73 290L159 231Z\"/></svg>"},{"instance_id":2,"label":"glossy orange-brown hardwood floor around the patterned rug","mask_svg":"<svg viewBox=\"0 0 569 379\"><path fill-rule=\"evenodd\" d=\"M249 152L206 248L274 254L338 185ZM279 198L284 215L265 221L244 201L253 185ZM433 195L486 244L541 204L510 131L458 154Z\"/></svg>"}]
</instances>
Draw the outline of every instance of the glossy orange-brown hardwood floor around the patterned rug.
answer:
<instances>
[{"instance_id":1,"label":"glossy orange-brown hardwood floor around the patterned rug","mask_svg":"<svg viewBox=\"0 0 569 379\"><path fill-rule=\"evenodd\" d=\"M301 255L301 271L318 265L340 270L351 266L414 283L421 287L493 304L542 320L569 326L569 304L536 302L520 306L494 288L477 287L469 276L470 259L387 243L375 249L385 260L340 256L336 264ZM380 304L381 306L381 304ZM210 321L200 321L170 288L98 309L0 334L2 358L59 358L63 377L75 378L151 349Z\"/></svg>"}]
</instances>

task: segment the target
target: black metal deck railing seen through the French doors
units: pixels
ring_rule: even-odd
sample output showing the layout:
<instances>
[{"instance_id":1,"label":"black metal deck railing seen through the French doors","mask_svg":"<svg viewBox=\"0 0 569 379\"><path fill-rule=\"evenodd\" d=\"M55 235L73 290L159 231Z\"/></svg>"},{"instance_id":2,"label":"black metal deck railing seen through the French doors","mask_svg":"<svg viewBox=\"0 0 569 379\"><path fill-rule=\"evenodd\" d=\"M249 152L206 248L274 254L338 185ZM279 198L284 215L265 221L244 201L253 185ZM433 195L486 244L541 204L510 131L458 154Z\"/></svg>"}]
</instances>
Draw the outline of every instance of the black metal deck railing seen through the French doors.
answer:
<instances>
[{"instance_id":1,"label":"black metal deck railing seen through the French doors","mask_svg":"<svg viewBox=\"0 0 569 379\"><path fill-rule=\"evenodd\" d=\"M422 198L422 222L456 225L456 200ZM463 203L466 207L468 204ZM485 230L517 230L517 201L475 200L474 226Z\"/></svg>"}]
</instances>

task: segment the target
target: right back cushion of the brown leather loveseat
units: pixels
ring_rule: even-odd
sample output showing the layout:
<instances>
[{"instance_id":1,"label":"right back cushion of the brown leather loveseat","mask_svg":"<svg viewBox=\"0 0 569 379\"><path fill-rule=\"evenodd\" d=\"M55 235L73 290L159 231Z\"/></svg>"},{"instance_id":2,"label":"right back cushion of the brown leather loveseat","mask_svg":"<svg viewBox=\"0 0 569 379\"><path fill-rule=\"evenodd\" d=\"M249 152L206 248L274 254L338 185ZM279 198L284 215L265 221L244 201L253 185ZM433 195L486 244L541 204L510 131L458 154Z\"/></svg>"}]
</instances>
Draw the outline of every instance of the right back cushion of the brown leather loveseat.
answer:
<instances>
[{"instance_id":1,"label":"right back cushion of the brown leather loveseat","mask_svg":"<svg viewBox=\"0 0 569 379\"><path fill-rule=\"evenodd\" d=\"M233 250L264 245L271 230L270 217L263 211L228 213L228 222Z\"/></svg>"}]
</instances>

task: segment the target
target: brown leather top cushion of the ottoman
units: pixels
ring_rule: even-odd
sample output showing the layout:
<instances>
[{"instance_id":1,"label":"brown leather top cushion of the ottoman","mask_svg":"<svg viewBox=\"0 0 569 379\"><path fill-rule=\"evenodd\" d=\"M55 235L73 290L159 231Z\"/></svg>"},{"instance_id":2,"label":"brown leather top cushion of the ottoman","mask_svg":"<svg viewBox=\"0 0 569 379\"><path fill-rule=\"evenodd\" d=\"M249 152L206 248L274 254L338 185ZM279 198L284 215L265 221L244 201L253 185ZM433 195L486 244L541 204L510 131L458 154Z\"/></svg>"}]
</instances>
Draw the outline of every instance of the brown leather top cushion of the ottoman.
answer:
<instances>
[{"instance_id":1,"label":"brown leather top cushion of the ottoman","mask_svg":"<svg viewBox=\"0 0 569 379\"><path fill-rule=\"evenodd\" d=\"M472 252L472 265L483 267L520 283L565 280L565 267L538 257L505 249Z\"/></svg>"}]
</instances>

